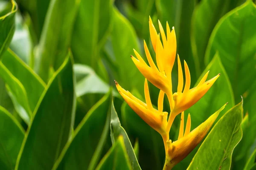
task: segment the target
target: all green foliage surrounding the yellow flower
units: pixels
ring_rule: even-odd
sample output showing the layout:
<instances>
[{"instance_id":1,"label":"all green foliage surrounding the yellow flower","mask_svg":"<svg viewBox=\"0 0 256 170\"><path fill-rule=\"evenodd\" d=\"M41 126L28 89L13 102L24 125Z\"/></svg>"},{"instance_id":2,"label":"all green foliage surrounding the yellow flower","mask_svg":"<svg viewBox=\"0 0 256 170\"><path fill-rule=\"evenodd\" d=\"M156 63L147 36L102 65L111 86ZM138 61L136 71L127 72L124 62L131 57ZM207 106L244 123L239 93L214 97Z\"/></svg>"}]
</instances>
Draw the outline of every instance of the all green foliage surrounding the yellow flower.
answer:
<instances>
[{"instance_id":1,"label":"all green foliage surrounding the yellow flower","mask_svg":"<svg viewBox=\"0 0 256 170\"><path fill-rule=\"evenodd\" d=\"M166 21L175 27L191 88L207 71L207 80L221 74L185 111L190 131L228 102L173 170L256 169L255 0L0 0L0 170L163 169L161 135L113 81L145 102L130 55L135 49L147 63L145 40L157 64L149 16L157 33L158 19L164 31ZM159 89L149 83L149 91L157 108ZM163 111L170 112L166 96ZM179 127L180 115L172 142Z\"/></svg>"}]
</instances>

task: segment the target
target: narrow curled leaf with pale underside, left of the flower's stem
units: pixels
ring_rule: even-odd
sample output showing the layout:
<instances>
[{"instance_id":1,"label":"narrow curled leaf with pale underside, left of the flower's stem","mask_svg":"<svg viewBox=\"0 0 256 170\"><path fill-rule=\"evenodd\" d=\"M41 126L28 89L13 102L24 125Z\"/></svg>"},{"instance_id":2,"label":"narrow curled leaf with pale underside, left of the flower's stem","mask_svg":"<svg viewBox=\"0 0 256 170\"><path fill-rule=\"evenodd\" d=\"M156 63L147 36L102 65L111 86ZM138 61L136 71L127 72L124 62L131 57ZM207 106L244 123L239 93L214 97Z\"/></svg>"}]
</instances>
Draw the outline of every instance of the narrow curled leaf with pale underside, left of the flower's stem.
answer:
<instances>
[{"instance_id":1,"label":"narrow curled leaf with pale underside, left of the flower's stem","mask_svg":"<svg viewBox=\"0 0 256 170\"><path fill-rule=\"evenodd\" d=\"M131 145L131 142L128 138L127 133L125 132L124 128L121 126L119 118L117 116L116 110L114 108L114 103L112 100L111 105L111 122L110 122L110 129L111 129L111 141L112 144L114 144L118 139L119 136L122 136L125 144L125 150L128 153L128 160L131 164L131 167L133 170L141 170L140 165L138 163L138 160L136 158L136 155L134 153L133 147Z\"/></svg>"}]
</instances>

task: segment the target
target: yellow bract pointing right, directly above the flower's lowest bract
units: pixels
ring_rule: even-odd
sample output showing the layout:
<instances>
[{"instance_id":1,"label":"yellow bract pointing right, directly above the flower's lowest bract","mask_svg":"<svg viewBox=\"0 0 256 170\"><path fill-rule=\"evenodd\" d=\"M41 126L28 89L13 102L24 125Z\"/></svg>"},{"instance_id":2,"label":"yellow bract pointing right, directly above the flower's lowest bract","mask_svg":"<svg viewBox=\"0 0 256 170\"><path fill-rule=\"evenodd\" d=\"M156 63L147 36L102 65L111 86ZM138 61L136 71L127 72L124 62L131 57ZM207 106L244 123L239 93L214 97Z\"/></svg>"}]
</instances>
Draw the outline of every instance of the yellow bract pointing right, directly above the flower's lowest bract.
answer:
<instances>
[{"instance_id":1,"label":"yellow bract pointing right, directly above the flower's lowest bract","mask_svg":"<svg viewBox=\"0 0 256 170\"><path fill-rule=\"evenodd\" d=\"M201 99L204 96L204 94L206 94L209 88L212 87L213 83L218 79L219 76L220 74L208 80L207 82L204 82L202 85L198 85L195 88L190 89L186 93L183 92L182 94L173 94L173 112L176 114L181 113L182 111L187 110L196 102L198 102L198 100Z\"/></svg>"}]
</instances>

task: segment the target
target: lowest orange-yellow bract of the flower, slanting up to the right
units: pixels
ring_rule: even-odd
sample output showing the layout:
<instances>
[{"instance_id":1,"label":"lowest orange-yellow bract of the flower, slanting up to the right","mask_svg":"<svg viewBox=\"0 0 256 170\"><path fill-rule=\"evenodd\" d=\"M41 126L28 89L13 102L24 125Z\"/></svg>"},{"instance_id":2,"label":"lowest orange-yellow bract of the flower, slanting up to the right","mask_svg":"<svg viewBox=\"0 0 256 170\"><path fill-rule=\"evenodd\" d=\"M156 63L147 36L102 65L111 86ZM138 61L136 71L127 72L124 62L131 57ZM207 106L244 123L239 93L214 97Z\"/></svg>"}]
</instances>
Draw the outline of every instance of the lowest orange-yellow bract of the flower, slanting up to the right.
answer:
<instances>
[{"instance_id":1,"label":"lowest orange-yellow bract of the flower, slanting up to the right","mask_svg":"<svg viewBox=\"0 0 256 170\"><path fill-rule=\"evenodd\" d=\"M187 136L183 136L183 138L171 144L168 149L168 157L166 158L166 166L169 169L182 161L201 142L201 140L204 139L204 136L206 136L209 129L212 127L212 124L216 120L218 114L226 105L212 114L212 116L192 130Z\"/></svg>"}]
</instances>

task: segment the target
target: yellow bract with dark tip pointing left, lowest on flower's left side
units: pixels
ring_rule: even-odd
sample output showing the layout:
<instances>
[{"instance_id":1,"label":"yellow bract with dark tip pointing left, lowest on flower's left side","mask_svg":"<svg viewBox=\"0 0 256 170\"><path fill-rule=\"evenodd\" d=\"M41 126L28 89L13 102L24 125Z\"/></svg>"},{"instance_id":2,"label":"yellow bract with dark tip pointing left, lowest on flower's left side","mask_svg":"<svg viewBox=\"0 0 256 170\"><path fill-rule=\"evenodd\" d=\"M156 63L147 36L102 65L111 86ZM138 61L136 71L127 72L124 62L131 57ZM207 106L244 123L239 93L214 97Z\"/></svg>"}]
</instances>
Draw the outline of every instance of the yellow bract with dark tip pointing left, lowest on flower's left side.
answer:
<instances>
[{"instance_id":1,"label":"yellow bract with dark tip pointing left, lowest on flower's left side","mask_svg":"<svg viewBox=\"0 0 256 170\"><path fill-rule=\"evenodd\" d=\"M153 111L147 108L147 105L137 99L135 96L131 95L128 91L125 91L117 82L116 88L125 100L127 104L143 119L149 126L151 126L158 133L164 133L166 129L167 120L166 114L159 112L153 108Z\"/></svg>"}]
</instances>

